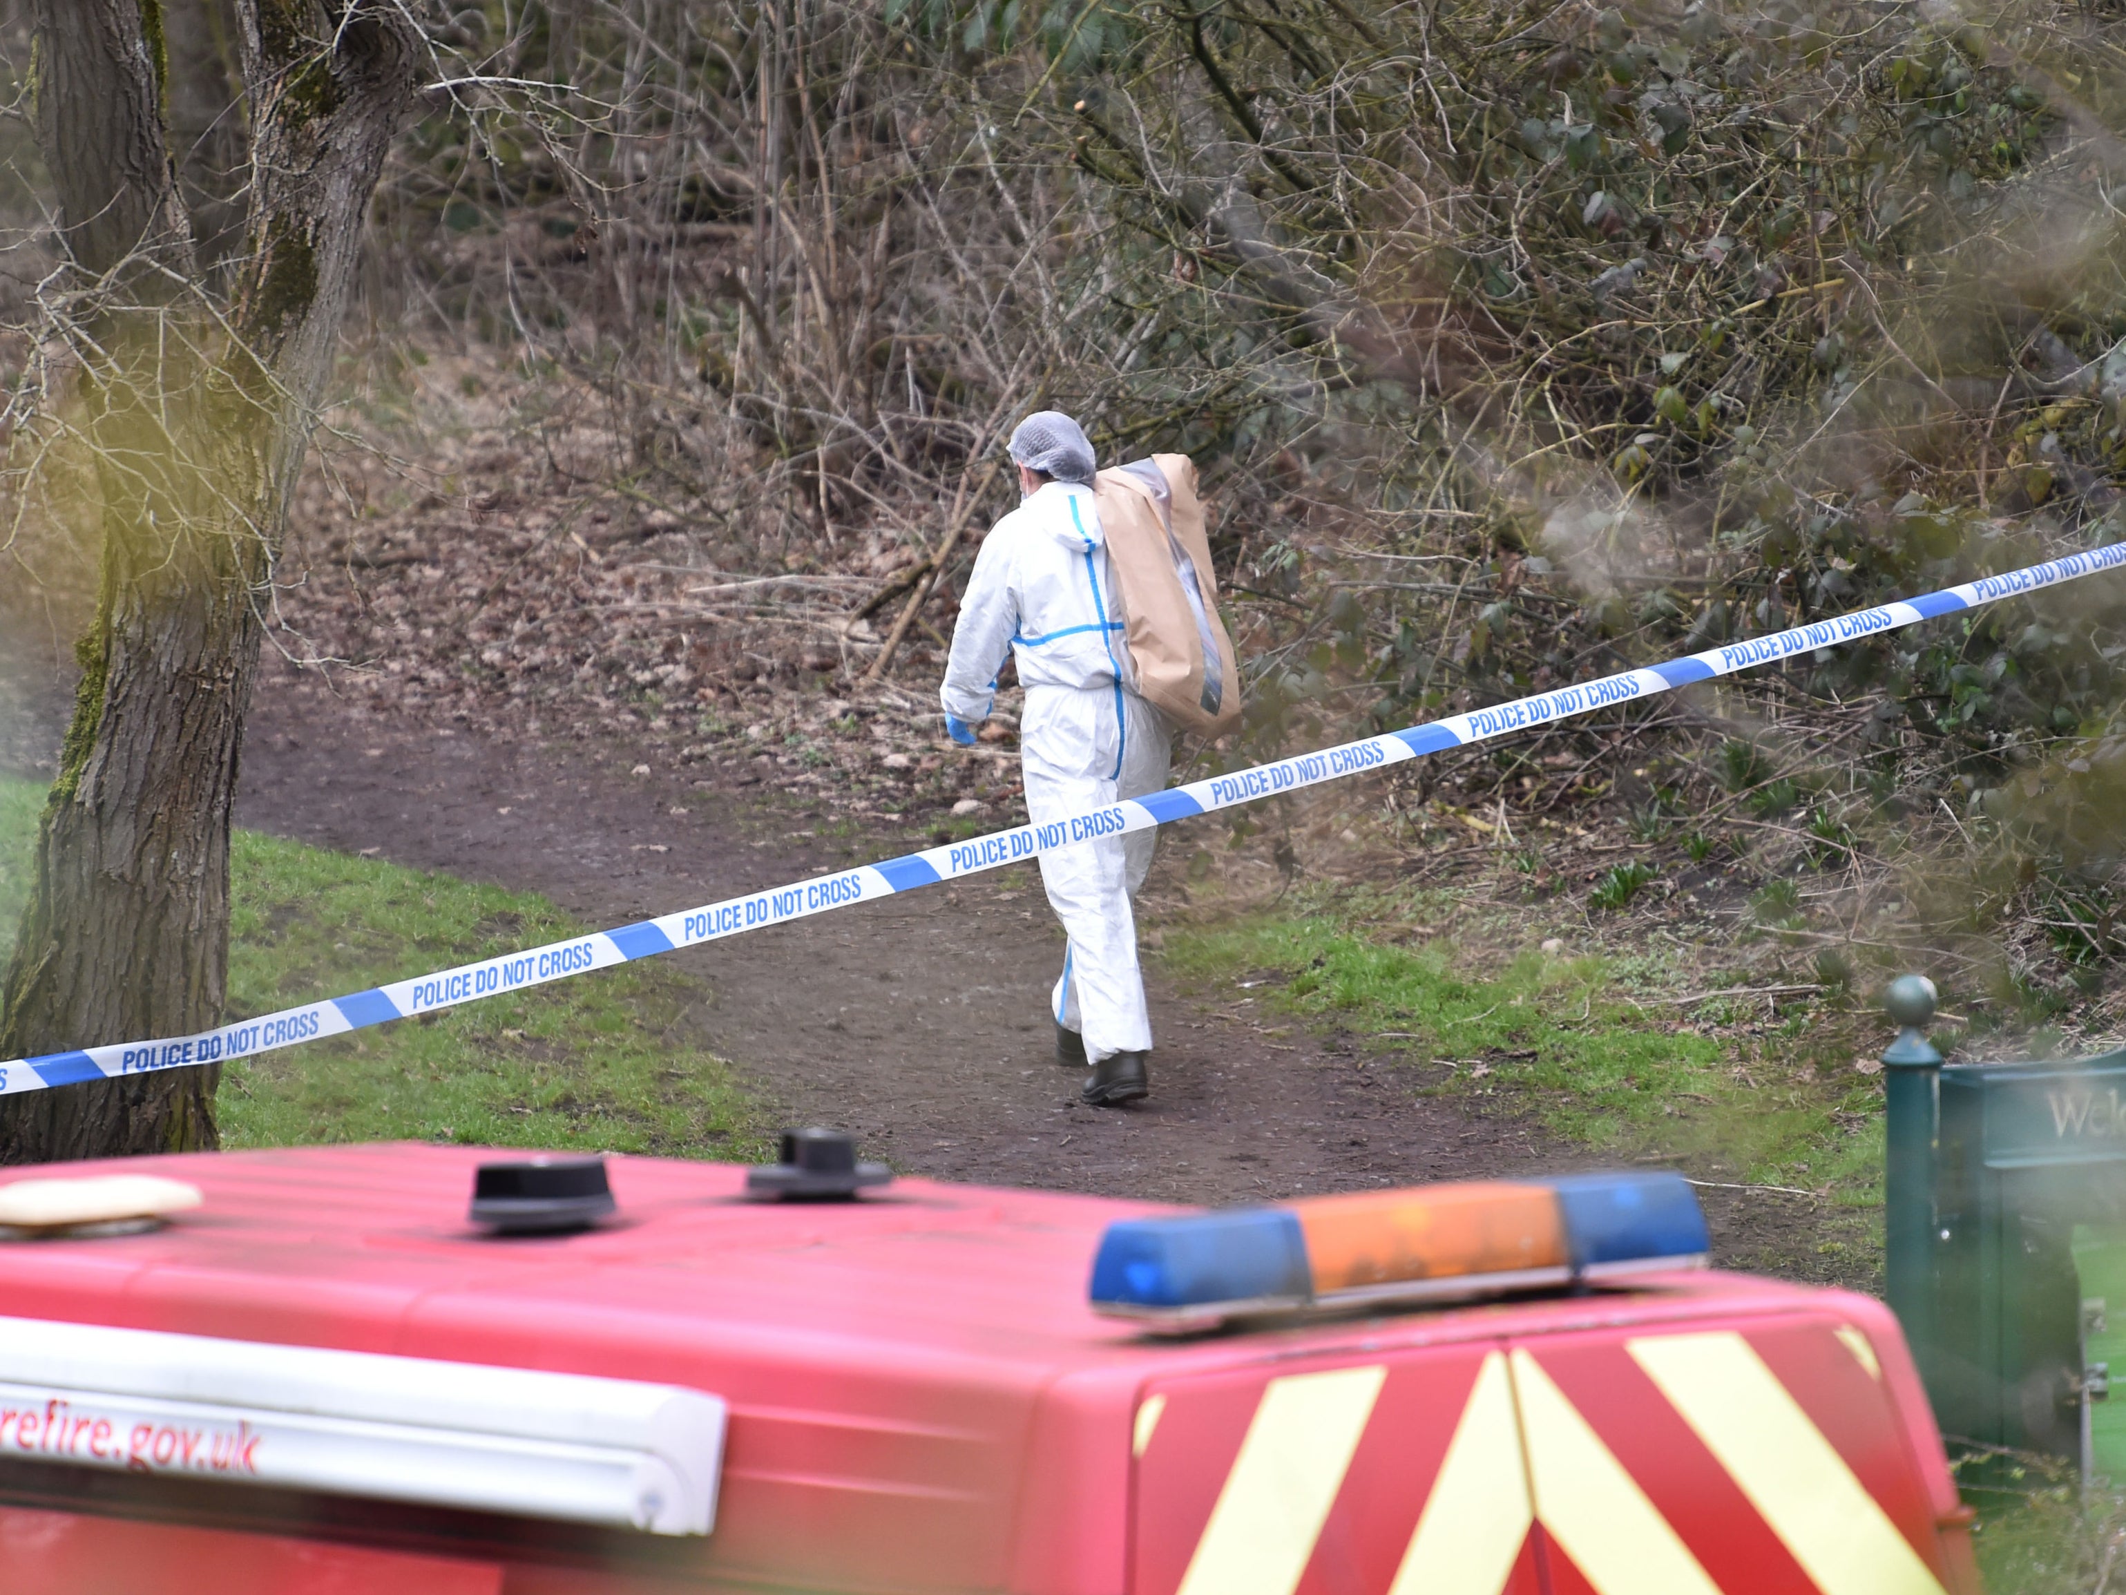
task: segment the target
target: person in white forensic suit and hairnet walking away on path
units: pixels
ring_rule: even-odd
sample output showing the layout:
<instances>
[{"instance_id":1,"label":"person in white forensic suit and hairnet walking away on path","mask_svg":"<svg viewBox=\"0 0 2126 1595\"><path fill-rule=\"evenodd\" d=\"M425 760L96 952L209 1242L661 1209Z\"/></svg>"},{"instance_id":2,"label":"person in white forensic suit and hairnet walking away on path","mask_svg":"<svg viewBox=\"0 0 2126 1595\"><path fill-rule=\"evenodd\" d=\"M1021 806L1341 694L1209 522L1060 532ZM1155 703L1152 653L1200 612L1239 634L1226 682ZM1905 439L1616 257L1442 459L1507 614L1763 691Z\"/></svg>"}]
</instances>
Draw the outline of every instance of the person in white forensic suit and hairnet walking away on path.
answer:
<instances>
[{"instance_id":1,"label":"person in white forensic suit and hairnet walking away on path","mask_svg":"<svg viewBox=\"0 0 2126 1595\"><path fill-rule=\"evenodd\" d=\"M997 521L967 578L944 672L946 734L974 742L1010 653L1027 691L1018 757L1035 825L1089 815L1167 785L1174 729L1131 691L1135 672L1114 574L1093 510L1093 444L1059 410L1012 432L1020 504ZM1152 1021L1131 897L1157 829L1042 853L1042 885L1069 944L1054 985L1057 1059L1084 1068L1095 1106L1150 1091Z\"/></svg>"}]
</instances>

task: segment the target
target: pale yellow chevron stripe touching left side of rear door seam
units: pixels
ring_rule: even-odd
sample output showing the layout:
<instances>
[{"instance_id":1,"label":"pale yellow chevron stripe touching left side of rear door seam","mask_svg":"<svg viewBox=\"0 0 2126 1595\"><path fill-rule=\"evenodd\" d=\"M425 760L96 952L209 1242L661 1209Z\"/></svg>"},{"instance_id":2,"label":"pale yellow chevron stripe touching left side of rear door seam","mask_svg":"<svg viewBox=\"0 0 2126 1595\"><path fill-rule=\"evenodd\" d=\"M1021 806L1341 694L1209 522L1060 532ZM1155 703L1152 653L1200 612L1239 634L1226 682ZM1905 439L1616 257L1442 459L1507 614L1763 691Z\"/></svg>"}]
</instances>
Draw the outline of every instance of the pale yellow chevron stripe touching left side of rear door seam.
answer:
<instances>
[{"instance_id":1,"label":"pale yellow chevron stripe touching left side of rear door seam","mask_svg":"<svg viewBox=\"0 0 2126 1595\"><path fill-rule=\"evenodd\" d=\"M1490 1353L1388 1595L1501 1595L1533 1521L1514 1384Z\"/></svg>"}]
</instances>

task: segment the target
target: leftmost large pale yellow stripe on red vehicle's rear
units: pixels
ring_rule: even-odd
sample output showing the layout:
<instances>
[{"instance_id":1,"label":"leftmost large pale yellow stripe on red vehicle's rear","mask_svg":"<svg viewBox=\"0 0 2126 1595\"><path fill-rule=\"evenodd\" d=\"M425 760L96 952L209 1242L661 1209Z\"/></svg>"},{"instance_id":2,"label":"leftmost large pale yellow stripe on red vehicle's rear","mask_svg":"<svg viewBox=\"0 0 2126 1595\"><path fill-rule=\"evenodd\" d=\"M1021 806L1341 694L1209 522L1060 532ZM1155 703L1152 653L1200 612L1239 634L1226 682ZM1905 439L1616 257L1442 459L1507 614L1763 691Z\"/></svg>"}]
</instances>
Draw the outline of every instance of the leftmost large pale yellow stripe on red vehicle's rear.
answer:
<instances>
[{"instance_id":1,"label":"leftmost large pale yellow stripe on red vehicle's rear","mask_svg":"<svg viewBox=\"0 0 2126 1595\"><path fill-rule=\"evenodd\" d=\"M1263 1387L1178 1595L1293 1595L1386 1378L1337 1367Z\"/></svg>"}]
</instances>

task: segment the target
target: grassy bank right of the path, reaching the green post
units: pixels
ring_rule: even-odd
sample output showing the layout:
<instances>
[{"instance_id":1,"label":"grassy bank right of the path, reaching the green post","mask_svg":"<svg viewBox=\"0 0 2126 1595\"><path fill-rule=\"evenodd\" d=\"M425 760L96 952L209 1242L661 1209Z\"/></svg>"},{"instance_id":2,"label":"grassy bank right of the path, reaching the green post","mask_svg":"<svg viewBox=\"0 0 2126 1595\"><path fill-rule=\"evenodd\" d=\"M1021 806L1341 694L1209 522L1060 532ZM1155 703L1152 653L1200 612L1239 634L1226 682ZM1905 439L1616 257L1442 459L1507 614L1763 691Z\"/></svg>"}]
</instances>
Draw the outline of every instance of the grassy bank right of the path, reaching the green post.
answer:
<instances>
[{"instance_id":1,"label":"grassy bank right of the path, reaching the green post","mask_svg":"<svg viewBox=\"0 0 2126 1595\"><path fill-rule=\"evenodd\" d=\"M1161 940L1203 1000L1346 1031L1424 1091L1618 1159L1813 1191L1826 1253L1873 1246L1882 1093L1856 1061L1882 1036L1865 1006L1769 1008L1684 946L1546 953L1524 914L1441 889L1301 887Z\"/></svg>"}]
</instances>

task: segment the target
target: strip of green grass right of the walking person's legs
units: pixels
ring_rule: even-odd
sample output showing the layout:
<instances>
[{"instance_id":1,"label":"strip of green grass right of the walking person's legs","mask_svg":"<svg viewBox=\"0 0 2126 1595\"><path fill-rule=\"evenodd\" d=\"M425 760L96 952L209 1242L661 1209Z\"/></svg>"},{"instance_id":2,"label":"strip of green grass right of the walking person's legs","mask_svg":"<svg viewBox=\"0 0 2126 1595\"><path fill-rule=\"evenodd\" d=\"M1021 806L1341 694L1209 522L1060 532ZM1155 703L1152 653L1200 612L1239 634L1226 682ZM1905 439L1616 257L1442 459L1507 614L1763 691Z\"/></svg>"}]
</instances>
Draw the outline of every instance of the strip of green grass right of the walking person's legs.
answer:
<instances>
[{"instance_id":1,"label":"strip of green grass right of the walking person's legs","mask_svg":"<svg viewBox=\"0 0 2126 1595\"><path fill-rule=\"evenodd\" d=\"M1454 919L1452 904L1429 908L1424 919ZM1680 1023L1686 1010L1658 1002L1639 961L1524 951L1486 968L1454 934L1384 944L1378 925L1367 934L1380 910L1327 893L1290 914L1167 929L1167 968L1199 991L1352 1031L1416 1085L1503 1097L1563 1140L1663 1153L1728 1180L1828 1187L1841 1206L1879 1202L1873 1087L1843 1070L1818 1080L1799 1025L1743 1046L1699 1034L1718 1029L1718 1000L1688 1010L1701 1023ZM1244 978L1263 985L1242 993Z\"/></svg>"}]
</instances>

